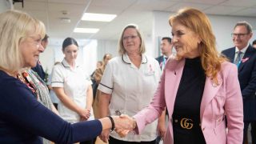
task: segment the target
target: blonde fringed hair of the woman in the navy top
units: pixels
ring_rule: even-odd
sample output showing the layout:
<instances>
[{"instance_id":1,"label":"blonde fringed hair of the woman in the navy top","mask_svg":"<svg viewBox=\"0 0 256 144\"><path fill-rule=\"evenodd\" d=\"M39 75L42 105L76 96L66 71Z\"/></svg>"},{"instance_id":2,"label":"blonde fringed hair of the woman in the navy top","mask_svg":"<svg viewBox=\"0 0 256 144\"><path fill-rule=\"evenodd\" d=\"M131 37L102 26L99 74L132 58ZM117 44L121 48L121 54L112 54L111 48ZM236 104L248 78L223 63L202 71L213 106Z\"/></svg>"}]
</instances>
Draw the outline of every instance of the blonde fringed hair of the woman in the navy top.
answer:
<instances>
[{"instance_id":1,"label":"blonde fringed hair of the woman in the navy top","mask_svg":"<svg viewBox=\"0 0 256 144\"><path fill-rule=\"evenodd\" d=\"M24 66L19 49L28 34L45 36L45 26L38 19L18 10L0 14L0 69L13 74Z\"/></svg>"}]
</instances>

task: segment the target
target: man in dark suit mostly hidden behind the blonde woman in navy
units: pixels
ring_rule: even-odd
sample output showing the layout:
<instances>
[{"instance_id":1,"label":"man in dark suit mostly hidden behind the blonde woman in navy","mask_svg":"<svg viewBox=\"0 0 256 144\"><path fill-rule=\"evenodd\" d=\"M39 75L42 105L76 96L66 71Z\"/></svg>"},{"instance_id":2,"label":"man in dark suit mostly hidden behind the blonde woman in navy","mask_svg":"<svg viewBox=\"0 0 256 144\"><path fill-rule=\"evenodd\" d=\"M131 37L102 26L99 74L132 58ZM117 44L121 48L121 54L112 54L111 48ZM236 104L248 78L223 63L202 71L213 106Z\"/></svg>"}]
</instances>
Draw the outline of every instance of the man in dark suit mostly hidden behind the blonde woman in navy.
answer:
<instances>
[{"instance_id":1,"label":"man in dark suit mostly hidden behind the blonde woman in navy","mask_svg":"<svg viewBox=\"0 0 256 144\"><path fill-rule=\"evenodd\" d=\"M44 50L46 50L46 46L48 45L48 38L49 36L46 34L44 38L42 38L42 42L41 45L42 47L44 47ZM34 70L40 78L42 78L42 80L46 80L46 73L45 71L42 69L42 65L41 62L38 59L38 63L37 66L33 67L32 70Z\"/></svg>"}]
</instances>

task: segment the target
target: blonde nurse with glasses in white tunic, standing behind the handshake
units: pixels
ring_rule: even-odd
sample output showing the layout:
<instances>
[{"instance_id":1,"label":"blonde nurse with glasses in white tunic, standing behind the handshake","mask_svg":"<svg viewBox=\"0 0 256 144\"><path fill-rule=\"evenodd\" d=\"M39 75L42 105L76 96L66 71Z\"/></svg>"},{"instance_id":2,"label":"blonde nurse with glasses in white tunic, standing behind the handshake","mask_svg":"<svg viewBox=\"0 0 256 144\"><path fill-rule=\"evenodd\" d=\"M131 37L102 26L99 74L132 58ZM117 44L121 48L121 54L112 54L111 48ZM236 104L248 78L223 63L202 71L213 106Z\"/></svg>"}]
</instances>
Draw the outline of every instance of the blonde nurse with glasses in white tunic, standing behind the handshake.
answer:
<instances>
[{"instance_id":1,"label":"blonde nurse with glasses in white tunic, standing behind the handshake","mask_svg":"<svg viewBox=\"0 0 256 144\"><path fill-rule=\"evenodd\" d=\"M134 115L150 104L161 70L158 62L146 56L145 51L138 27L126 26L119 40L119 56L107 63L98 85L98 90L102 92L98 98L101 118L116 114ZM100 138L110 144L155 144L158 124L158 121L152 122L142 134L130 133L126 138L105 130Z\"/></svg>"}]
</instances>

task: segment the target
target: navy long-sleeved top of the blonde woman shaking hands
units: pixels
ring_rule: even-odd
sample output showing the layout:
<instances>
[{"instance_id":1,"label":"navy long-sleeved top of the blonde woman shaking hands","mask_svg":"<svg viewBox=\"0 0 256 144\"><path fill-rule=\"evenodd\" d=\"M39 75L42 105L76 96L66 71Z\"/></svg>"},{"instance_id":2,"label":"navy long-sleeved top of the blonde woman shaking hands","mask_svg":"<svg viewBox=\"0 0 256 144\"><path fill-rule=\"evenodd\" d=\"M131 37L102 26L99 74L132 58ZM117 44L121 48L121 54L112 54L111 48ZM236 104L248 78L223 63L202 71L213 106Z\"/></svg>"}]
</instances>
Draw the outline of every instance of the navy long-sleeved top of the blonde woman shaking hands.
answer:
<instances>
[{"instance_id":1,"label":"navy long-sleeved top of the blonde woman shaking hands","mask_svg":"<svg viewBox=\"0 0 256 144\"><path fill-rule=\"evenodd\" d=\"M88 141L102 132L98 120L70 124L43 106L28 86L0 70L0 143L42 144Z\"/></svg>"}]
</instances>

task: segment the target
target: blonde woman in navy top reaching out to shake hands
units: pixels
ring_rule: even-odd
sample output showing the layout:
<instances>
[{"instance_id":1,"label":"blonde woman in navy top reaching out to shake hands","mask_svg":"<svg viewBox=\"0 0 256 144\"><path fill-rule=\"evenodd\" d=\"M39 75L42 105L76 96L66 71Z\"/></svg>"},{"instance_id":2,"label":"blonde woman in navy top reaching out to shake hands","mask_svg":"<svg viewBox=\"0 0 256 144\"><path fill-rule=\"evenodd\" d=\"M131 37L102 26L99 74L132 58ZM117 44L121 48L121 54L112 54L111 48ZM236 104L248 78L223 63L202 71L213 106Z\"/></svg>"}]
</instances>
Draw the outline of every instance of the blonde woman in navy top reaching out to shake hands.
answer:
<instances>
[{"instance_id":1,"label":"blonde woman in navy top reaching out to shake hands","mask_svg":"<svg viewBox=\"0 0 256 144\"><path fill-rule=\"evenodd\" d=\"M42 137L74 143L95 138L102 130L131 127L118 117L70 124L38 102L33 87L21 82L17 74L36 66L44 49L45 26L17 10L1 13L0 19L0 143L42 144Z\"/></svg>"}]
</instances>

